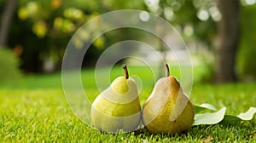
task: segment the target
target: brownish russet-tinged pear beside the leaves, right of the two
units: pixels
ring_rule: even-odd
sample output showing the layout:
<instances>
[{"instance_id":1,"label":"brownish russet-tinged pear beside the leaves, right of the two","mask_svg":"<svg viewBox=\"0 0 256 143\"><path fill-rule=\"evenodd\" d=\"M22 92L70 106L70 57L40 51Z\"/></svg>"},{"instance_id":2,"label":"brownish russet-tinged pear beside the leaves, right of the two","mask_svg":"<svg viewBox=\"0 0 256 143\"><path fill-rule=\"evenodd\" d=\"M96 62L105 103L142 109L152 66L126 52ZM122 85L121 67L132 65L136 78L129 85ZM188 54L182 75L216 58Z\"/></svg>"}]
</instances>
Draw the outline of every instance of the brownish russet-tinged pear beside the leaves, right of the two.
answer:
<instances>
[{"instance_id":1,"label":"brownish russet-tinged pear beside the leaves, right of the two","mask_svg":"<svg viewBox=\"0 0 256 143\"><path fill-rule=\"evenodd\" d=\"M195 109L176 77L161 77L143 106L143 124L153 134L181 134L191 129Z\"/></svg>"}]
</instances>

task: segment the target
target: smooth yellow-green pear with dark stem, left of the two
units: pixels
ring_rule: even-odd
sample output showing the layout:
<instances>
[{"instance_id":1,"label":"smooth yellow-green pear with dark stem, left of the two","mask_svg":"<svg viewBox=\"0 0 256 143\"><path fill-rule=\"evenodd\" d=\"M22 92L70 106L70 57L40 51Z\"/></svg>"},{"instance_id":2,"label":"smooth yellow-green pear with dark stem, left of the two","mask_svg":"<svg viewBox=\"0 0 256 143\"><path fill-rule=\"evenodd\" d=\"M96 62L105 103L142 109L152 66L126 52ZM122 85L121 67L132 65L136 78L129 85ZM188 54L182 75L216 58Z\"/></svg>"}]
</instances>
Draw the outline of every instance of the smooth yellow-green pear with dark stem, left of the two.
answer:
<instances>
[{"instance_id":1,"label":"smooth yellow-green pear with dark stem, left of the two","mask_svg":"<svg viewBox=\"0 0 256 143\"><path fill-rule=\"evenodd\" d=\"M104 132L131 132L141 122L137 84L129 77L127 67L123 68L125 77L117 77L90 108L91 123Z\"/></svg>"}]
</instances>

